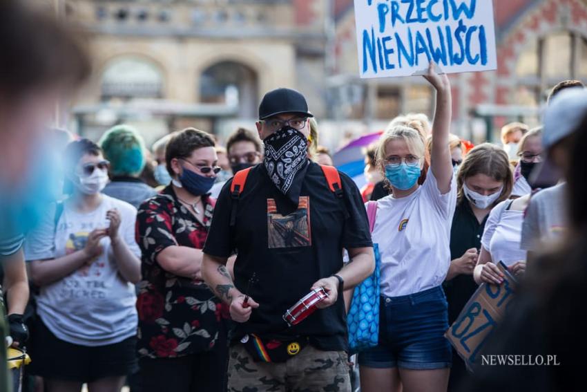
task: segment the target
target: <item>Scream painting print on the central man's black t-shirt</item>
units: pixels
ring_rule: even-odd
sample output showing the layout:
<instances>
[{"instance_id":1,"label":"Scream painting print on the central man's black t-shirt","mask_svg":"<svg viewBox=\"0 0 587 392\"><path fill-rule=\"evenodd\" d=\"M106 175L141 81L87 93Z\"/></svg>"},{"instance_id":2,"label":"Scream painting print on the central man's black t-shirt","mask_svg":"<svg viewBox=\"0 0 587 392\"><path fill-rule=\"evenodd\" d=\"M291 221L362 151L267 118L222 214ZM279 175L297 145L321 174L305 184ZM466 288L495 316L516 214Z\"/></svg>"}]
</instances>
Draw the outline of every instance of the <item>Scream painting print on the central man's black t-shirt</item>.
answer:
<instances>
[{"instance_id":1,"label":"Scream painting print on the central man's black t-shirt","mask_svg":"<svg viewBox=\"0 0 587 392\"><path fill-rule=\"evenodd\" d=\"M278 214L275 199L267 199L267 231L269 249L311 246L309 197L301 196L298 209L286 216Z\"/></svg>"}]
</instances>

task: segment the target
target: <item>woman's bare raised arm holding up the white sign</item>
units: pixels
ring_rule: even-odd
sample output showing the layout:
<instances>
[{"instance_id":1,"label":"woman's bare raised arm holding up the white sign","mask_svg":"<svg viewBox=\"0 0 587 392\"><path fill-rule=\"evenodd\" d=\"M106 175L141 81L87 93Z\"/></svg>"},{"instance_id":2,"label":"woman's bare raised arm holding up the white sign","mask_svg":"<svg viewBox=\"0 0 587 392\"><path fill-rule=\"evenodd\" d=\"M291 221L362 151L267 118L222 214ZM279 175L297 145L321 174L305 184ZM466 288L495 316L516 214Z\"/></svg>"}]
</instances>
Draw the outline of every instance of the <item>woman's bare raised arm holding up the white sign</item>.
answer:
<instances>
[{"instance_id":1,"label":"woman's bare raised arm holding up the white sign","mask_svg":"<svg viewBox=\"0 0 587 392\"><path fill-rule=\"evenodd\" d=\"M446 74L439 75L434 71L433 62L428 66L425 79L436 89L436 110L434 111L434 123L432 124L432 153L430 156L430 169L436 178L439 191L446 194L450 191L452 179L452 161L448 147L448 135L450 133L450 120L452 117L452 97L450 82Z\"/></svg>"}]
</instances>

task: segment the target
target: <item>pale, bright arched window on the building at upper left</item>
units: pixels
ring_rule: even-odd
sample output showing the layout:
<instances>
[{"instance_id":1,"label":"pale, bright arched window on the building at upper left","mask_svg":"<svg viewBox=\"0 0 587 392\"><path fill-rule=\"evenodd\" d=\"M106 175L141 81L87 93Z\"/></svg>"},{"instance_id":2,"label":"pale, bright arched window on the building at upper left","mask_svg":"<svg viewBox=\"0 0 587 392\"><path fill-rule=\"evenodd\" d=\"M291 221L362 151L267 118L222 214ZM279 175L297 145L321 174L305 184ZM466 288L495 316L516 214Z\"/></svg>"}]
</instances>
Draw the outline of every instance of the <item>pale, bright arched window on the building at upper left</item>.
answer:
<instances>
[{"instance_id":1,"label":"pale, bright arched window on the building at upper left","mask_svg":"<svg viewBox=\"0 0 587 392\"><path fill-rule=\"evenodd\" d=\"M163 76L157 64L142 57L113 59L102 74L102 99L161 98Z\"/></svg>"}]
</instances>

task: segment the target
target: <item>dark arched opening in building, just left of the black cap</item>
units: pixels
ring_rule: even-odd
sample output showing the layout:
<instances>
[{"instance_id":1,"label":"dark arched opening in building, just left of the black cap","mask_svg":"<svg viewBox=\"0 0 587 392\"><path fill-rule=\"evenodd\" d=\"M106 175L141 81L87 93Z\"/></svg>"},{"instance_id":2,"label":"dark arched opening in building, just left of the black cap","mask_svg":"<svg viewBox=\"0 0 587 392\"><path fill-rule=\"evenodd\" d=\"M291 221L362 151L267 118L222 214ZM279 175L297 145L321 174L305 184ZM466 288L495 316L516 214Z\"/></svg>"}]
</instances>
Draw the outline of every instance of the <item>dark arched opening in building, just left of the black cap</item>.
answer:
<instances>
[{"instance_id":1,"label":"dark arched opening in building, just left of the black cap","mask_svg":"<svg viewBox=\"0 0 587 392\"><path fill-rule=\"evenodd\" d=\"M238 62L219 62L206 68L200 77L202 103L237 106L239 115L255 118L258 105L257 73Z\"/></svg>"}]
</instances>

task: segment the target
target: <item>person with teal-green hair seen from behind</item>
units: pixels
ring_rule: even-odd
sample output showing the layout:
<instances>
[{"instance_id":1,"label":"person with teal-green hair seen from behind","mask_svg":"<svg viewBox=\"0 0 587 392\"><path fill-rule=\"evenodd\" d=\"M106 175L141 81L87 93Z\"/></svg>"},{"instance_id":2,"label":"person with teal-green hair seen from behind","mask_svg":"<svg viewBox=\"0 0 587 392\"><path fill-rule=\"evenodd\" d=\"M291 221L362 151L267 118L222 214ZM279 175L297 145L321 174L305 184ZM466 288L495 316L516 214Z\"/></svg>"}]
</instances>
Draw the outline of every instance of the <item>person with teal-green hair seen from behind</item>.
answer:
<instances>
[{"instance_id":1,"label":"person with teal-green hair seen from behind","mask_svg":"<svg viewBox=\"0 0 587 392\"><path fill-rule=\"evenodd\" d=\"M124 200L134 207L155 196L155 189L140 179L145 167L144 142L139 133L128 125L110 128L99 141L104 158L110 162L111 181L104 194Z\"/></svg>"}]
</instances>

